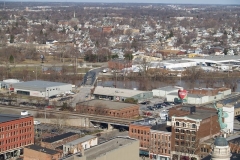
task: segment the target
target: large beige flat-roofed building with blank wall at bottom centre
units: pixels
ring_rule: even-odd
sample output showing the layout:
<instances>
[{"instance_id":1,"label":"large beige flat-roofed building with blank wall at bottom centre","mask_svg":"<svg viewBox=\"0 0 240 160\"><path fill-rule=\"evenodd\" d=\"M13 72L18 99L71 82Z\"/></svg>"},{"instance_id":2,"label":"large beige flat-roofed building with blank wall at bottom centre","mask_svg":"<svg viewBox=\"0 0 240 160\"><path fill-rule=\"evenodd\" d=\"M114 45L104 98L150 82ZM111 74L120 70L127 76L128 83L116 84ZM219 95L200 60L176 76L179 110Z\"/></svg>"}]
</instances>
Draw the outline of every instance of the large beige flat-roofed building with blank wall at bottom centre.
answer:
<instances>
[{"instance_id":1,"label":"large beige flat-roofed building with blank wall at bottom centre","mask_svg":"<svg viewBox=\"0 0 240 160\"><path fill-rule=\"evenodd\" d=\"M139 141L117 137L61 160L139 160Z\"/></svg>"}]
</instances>

